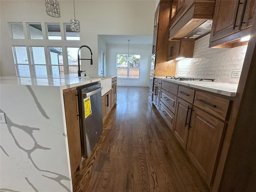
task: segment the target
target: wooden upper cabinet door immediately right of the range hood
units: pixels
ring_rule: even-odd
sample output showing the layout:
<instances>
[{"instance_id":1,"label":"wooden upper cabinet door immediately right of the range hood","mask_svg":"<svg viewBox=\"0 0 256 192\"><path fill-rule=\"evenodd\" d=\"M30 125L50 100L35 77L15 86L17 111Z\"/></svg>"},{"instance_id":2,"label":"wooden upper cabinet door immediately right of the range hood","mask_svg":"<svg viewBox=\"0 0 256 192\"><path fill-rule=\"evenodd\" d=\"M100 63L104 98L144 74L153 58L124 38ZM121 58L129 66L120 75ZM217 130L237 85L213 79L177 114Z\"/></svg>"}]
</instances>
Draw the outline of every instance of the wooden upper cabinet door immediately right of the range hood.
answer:
<instances>
[{"instance_id":1,"label":"wooden upper cabinet door immediately right of the range hood","mask_svg":"<svg viewBox=\"0 0 256 192\"><path fill-rule=\"evenodd\" d=\"M243 5L240 0L217 0L212 22L210 41L239 31Z\"/></svg>"}]
</instances>

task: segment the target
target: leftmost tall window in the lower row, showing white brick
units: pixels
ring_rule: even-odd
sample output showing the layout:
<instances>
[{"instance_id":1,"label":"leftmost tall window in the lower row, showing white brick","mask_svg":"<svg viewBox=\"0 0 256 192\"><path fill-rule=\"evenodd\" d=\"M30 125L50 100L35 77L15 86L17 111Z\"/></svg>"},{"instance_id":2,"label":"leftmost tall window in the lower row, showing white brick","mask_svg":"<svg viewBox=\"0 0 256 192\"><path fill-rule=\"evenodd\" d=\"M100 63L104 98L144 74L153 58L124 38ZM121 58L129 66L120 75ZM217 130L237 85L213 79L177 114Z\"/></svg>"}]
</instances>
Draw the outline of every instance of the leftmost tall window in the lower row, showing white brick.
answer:
<instances>
[{"instance_id":1,"label":"leftmost tall window in the lower row, showing white brick","mask_svg":"<svg viewBox=\"0 0 256 192\"><path fill-rule=\"evenodd\" d=\"M13 46L12 51L19 76L30 76L26 46Z\"/></svg>"}]
</instances>

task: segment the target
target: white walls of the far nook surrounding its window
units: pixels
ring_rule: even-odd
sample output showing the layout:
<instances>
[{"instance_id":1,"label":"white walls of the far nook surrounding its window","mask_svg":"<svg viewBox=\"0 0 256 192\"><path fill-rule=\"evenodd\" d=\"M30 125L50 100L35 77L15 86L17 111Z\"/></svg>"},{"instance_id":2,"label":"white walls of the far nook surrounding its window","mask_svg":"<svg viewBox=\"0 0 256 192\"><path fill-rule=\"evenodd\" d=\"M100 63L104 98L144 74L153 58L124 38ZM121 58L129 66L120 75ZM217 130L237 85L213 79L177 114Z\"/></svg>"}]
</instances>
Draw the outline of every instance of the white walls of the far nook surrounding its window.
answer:
<instances>
[{"instance_id":1,"label":"white walls of the far nook surrounding its window","mask_svg":"<svg viewBox=\"0 0 256 192\"><path fill-rule=\"evenodd\" d=\"M130 44L130 54L140 54L140 78L120 79L117 85L148 86L152 45ZM116 75L116 54L127 54L128 44L107 44L107 74Z\"/></svg>"}]
</instances>

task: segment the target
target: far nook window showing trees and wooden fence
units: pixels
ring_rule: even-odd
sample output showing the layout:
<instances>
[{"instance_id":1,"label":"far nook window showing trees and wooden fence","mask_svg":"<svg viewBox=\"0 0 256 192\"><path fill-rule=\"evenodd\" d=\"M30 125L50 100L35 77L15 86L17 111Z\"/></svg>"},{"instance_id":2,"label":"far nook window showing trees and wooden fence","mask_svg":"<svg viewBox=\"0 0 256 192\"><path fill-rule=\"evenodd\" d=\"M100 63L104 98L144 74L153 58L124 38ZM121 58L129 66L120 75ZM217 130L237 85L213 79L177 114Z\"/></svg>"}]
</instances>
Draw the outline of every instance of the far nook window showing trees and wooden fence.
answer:
<instances>
[{"instance_id":1,"label":"far nook window showing trees and wooden fence","mask_svg":"<svg viewBox=\"0 0 256 192\"><path fill-rule=\"evenodd\" d=\"M131 55L131 61L126 61L124 56L127 54L117 54L117 77L140 78L140 55Z\"/></svg>"}]
</instances>

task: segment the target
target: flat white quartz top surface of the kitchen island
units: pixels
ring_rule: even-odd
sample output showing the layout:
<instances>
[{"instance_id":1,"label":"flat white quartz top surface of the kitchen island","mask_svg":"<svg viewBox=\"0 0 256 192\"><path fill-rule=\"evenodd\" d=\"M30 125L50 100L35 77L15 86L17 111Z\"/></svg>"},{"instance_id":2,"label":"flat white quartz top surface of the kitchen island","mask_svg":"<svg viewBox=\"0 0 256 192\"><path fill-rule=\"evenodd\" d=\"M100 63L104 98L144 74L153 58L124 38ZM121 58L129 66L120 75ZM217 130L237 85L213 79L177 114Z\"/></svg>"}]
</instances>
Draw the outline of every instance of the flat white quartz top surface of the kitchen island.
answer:
<instances>
[{"instance_id":1,"label":"flat white quartz top surface of the kitchen island","mask_svg":"<svg viewBox=\"0 0 256 192\"><path fill-rule=\"evenodd\" d=\"M62 75L61 77L59 76L42 76L42 77L0 76L0 84L57 86L57 87L60 87L61 89L90 84L90 83L98 82L100 80L101 80L100 77L78 78L77 76L72 76L72 75Z\"/></svg>"}]
</instances>

